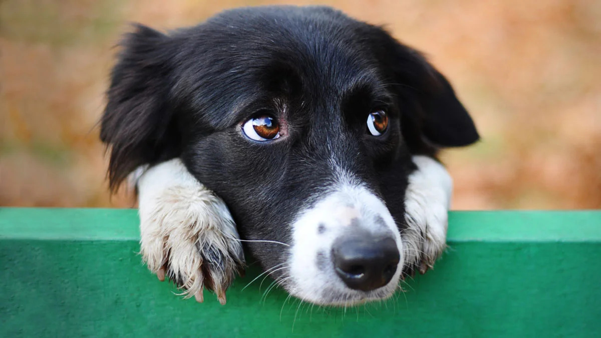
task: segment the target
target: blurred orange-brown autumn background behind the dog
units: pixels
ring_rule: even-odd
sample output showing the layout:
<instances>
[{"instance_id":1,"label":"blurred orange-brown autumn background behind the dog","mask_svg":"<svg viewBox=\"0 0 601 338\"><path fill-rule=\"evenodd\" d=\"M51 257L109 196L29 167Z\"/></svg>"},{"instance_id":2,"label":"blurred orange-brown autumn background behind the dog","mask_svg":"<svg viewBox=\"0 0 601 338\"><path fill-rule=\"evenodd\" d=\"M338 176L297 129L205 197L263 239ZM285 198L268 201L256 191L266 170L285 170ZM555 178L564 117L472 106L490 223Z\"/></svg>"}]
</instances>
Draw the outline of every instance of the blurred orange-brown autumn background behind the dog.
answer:
<instances>
[{"instance_id":1,"label":"blurred orange-brown autumn background behind the dog","mask_svg":"<svg viewBox=\"0 0 601 338\"><path fill-rule=\"evenodd\" d=\"M273 1L0 0L0 205L130 207L97 120L129 22L194 25ZM601 1L295 1L428 55L482 141L447 150L454 209L601 208Z\"/></svg>"}]
</instances>

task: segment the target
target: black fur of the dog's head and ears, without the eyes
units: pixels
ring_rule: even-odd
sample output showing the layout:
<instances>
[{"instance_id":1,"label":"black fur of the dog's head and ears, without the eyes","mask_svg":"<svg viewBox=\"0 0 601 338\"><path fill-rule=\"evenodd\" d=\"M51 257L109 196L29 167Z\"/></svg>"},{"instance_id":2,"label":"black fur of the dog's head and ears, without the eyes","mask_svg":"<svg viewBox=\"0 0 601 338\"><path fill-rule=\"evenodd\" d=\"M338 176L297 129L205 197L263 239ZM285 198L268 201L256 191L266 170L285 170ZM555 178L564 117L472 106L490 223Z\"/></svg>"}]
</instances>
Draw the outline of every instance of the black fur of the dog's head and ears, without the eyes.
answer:
<instances>
[{"instance_id":1,"label":"black fur of the dog's head and ears, without the eyes","mask_svg":"<svg viewBox=\"0 0 601 338\"><path fill-rule=\"evenodd\" d=\"M102 118L111 188L139 165L180 156L245 239L290 242L295 212L334 180L331 159L403 229L410 156L478 140L422 55L331 8L239 8L168 35L136 26L122 45ZM379 109L389 128L373 137L365 121ZM281 138L242 134L257 112L285 121ZM264 268L285 259L272 245L249 248Z\"/></svg>"}]
</instances>

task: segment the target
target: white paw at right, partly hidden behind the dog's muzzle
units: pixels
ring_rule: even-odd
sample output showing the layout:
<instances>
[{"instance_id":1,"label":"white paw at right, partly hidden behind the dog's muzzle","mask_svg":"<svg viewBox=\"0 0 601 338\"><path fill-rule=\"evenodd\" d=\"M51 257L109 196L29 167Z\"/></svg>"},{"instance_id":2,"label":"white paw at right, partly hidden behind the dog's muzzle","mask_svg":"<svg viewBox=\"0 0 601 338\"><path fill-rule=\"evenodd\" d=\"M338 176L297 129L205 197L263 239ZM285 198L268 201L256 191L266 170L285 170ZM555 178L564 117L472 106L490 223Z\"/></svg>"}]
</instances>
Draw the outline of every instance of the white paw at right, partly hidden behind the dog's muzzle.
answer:
<instances>
[{"instance_id":1,"label":"white paw at right, partly hidden behind the dog's muzzle","mask_svg":"<svg viewBox=\"0 0 601 338\"><path fill-rule=\"evenodd\" d=\"M447 247L448 209L453 180L439 162L427 156L413 156L417 170L409 176L405 194L405 221L401 232L404 275L431 269Z\"/></svg>"}]
</instances>

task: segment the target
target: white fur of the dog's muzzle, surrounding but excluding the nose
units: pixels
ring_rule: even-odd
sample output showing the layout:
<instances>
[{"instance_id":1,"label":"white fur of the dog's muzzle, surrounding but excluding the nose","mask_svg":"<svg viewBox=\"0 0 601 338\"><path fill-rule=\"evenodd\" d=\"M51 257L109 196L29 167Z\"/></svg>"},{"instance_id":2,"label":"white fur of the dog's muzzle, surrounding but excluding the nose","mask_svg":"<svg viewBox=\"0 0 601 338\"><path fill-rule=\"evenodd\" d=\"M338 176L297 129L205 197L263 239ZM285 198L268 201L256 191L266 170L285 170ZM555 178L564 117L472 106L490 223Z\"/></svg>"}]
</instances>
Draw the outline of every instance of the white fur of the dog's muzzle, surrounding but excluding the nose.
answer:
<instances>
[{"instance_id":1,"label":"white fur of the dog's muzzle, surrounding but excluding the nose","mask_svg":"<svg viewBox=\"0 0 601 338\"><path fill-rule=\"evenodd\" d=\"M385 226L374 222L382 217ZM369 292L347 287L336 275L331 259L332 244L343 235L353 218L358 218L362 230L376 236L390 235L397 242L400 261L392 280ZM319 233L319 227L325 231ZM387 298L394 293L403 268L403 248L400 233L385 204L361 185L343 184L304 210L292 224L293 242L290 247L290 280L285 287L296 297L316 304L347 306L368 300ZM317 266L318 253L328 268Z\"/></svg>"}]
</instances>

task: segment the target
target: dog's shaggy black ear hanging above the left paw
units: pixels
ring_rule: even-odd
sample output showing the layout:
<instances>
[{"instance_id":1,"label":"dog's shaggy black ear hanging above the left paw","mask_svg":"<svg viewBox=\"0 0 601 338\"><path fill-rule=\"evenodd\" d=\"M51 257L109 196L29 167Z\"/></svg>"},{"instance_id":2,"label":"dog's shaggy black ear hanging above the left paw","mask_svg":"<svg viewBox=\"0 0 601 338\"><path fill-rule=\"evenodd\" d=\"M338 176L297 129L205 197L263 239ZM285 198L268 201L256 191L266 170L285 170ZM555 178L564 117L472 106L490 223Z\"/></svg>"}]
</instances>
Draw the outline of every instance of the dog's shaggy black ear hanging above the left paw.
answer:
<instances>
[{"instance_id":1,"label":"dog's shaggy black ear hanging above the left paw","mask_svg":"<svg viewBox=\"0 0 601 338\"><path fill-rule=\"evenodd\" d=\"M111 73L100 139L110 151L112 191L142 164L177 156L178 138L169 81L171 38L146 26L121 41L122 51Z\"/></svg>"}]
</instances>

